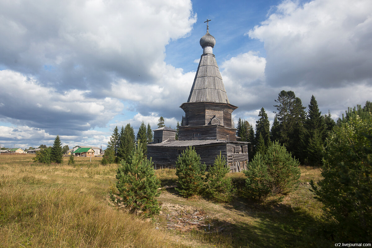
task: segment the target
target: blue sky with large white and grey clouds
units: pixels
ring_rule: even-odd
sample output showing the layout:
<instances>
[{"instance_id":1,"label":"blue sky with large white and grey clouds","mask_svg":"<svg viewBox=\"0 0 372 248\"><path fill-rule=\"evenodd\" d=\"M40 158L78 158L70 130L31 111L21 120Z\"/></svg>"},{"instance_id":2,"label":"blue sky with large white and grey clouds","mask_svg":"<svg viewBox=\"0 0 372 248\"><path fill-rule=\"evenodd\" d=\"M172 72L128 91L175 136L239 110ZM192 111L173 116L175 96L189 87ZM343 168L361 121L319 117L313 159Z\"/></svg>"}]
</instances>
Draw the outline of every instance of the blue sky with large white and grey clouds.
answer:
<instances>
[{"instance_id":1,"label":"blue sky with large white and grey clouds","mask_svg":"<svg viewBox=\"0 0 372 248\"><path fill-rule=\"evenodd\" d=\"M213 49L233 112L272 121L281 90L334 119L372 100L372 2L1 1L0 143L106 146L116 125L181 120Z\"/></svg>"}]
</instances>

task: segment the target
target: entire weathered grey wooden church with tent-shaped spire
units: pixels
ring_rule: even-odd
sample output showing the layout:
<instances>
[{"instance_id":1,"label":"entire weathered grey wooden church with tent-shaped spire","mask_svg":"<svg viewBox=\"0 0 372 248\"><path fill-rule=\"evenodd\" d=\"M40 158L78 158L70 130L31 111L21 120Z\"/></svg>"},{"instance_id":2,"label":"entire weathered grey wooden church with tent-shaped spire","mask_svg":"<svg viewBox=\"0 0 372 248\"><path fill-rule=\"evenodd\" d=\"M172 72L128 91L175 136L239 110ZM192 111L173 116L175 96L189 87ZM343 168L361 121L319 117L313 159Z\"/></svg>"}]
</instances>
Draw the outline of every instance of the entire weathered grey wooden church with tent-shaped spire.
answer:
<instances>
[{"instance_id":1,"label":"entire weathered grey wooden church with tent-shaped spire","mask_svg":"<svg viewBox=\"0 0 372 248\"><path fill-rule=\"evenodd\" d=\"M147 158L152 158L154 168L174 167L182 151L193 146L202 163L213 165L221 152L231 172L246 169L248 142L237 141L231 118L231 113L237 107L230 104L227 98L212 52L216 40L208 29L207 22L207 32L200 39L203 54L189 99L180 106L185 111L185 116L182 116L178 140L175 139L176 130L163 127L154 130L154 142L147 145Z\"/></svg>"}]
</instances>

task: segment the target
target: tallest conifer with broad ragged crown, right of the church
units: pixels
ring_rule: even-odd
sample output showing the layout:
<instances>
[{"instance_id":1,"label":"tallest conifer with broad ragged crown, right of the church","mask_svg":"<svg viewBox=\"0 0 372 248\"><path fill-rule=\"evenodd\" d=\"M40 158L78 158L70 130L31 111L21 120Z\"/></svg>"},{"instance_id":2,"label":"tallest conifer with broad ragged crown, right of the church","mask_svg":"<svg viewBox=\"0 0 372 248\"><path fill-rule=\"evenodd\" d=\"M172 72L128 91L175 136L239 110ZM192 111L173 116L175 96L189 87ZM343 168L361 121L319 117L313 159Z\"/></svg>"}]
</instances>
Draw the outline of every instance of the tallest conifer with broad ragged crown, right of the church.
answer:
<instances>
[{"instance_id":1,"label":"tallest conifer with broad ragged crown, right of the church","mask_svg":"<svg viewBox=\"0 0 372 248\"><path fill-rule=\"evenodd\" d=\"M286 149L299 157L302 153L301 135L306 118L306 107L302 106L301 99L296 97L293 91L282 90L275 100L277 111L274 112L279 122L279 143Z\"/></svg>"}]
</instances>

